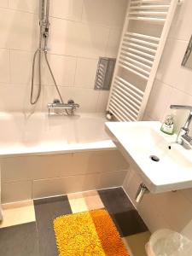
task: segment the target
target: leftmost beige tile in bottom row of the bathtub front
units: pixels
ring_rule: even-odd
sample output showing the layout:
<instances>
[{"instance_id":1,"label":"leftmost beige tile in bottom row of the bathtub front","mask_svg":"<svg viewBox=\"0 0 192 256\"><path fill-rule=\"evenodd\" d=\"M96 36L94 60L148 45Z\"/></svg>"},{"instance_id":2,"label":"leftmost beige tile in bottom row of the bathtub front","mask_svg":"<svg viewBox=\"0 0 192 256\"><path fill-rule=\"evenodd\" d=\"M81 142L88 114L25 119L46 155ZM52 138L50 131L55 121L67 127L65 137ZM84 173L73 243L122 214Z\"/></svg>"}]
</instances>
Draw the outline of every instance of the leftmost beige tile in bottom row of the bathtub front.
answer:
<instances>
[{"instance_id":1,"label":"leftmost beige tile in bottom row of the bathtub front","mask_svg":"<svg viewBox=\"0 0 192 256\"><path fill-rule=\"evenodd\" d=\"M2 203L32 199L32 182L23 181L2 184Z\"/></svg>"}]
</instances>

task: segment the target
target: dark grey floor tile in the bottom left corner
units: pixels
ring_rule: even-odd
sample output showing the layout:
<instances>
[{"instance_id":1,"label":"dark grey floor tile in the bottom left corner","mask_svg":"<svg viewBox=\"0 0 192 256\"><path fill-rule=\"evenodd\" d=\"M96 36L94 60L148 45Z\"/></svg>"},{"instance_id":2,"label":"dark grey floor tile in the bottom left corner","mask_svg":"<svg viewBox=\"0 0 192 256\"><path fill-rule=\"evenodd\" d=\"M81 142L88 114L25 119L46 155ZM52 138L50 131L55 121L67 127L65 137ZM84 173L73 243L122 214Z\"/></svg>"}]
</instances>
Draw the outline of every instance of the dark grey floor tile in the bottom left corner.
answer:
<instances>
[{"instance_id":1,"label":"dark grey floor tile in the bottom left corner","mask_svg":"<svg viewBox=\"0 0 192 256\"><path fill-rule=\"evenodd\" d=\"M32 222L0 229L0 255L38 256L36 223Z\"/></svg>"}]
</instances>

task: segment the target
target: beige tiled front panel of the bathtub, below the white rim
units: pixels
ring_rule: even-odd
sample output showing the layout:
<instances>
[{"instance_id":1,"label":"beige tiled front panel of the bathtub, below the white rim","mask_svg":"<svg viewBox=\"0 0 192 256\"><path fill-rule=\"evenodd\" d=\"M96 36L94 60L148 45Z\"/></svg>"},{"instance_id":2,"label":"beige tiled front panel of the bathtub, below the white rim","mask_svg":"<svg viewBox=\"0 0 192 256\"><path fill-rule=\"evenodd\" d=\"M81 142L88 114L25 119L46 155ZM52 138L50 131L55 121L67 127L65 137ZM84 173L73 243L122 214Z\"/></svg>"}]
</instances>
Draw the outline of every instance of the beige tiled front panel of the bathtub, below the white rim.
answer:
<instances>
[{"instance_id":1,"label":"beige tiled front panel of the bathtub, below the white rim","mask_svg":"<svg viewBox=\"0 0 192 256\"><path fill-rule=\"evenodd\" d=\"M128 164L118 150L5 158L2 201L24 201L121 186Z\"/></svg>"}]
</instances>

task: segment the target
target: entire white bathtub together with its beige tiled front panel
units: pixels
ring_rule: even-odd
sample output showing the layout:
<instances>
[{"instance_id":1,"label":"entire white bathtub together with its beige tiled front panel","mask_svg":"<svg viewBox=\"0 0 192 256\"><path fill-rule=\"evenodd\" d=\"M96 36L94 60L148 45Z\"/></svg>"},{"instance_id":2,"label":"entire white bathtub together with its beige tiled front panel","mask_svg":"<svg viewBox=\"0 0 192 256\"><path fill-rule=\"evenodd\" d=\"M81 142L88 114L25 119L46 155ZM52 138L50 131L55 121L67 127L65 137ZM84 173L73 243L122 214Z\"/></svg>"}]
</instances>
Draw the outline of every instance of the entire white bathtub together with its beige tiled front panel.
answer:
<instances>
[{"instance_id":1,"label":"entire white bathtub together with its beige tiled front panel","mask_svg":"<svg viewBox=\"0 0 192 256\"><path fill-rule=\"evenodd\" d=\"M0 114L3 203L121 186L128 164L99 113Z\"/></svg>"}]
</instances>

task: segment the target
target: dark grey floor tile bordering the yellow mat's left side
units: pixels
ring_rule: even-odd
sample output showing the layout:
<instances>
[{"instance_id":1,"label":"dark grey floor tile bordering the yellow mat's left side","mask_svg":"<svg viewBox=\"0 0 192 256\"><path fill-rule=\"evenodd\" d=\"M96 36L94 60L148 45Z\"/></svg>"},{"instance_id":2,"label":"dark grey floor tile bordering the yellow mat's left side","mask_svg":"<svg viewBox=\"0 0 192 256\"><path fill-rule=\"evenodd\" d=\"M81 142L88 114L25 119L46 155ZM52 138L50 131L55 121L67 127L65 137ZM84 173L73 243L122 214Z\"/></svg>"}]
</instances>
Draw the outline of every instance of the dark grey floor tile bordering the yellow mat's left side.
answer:
<instances>
[{"instance_id":1,"label":"dark grey floor tile bordering the yellow mat's left side","mask_svg":"<svg viewBox=\"0 0 192 256\"><path fill-rule=\"evenodd\" d=\"M57 256L54 218L72 213L67 195L34 201L40 256Z\"/></svg>"}]
</instances>

